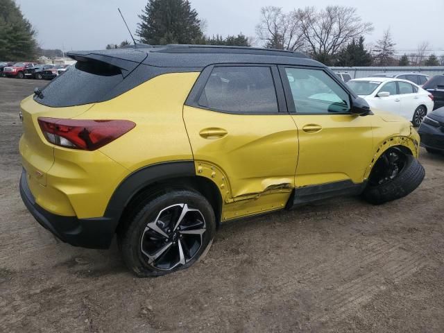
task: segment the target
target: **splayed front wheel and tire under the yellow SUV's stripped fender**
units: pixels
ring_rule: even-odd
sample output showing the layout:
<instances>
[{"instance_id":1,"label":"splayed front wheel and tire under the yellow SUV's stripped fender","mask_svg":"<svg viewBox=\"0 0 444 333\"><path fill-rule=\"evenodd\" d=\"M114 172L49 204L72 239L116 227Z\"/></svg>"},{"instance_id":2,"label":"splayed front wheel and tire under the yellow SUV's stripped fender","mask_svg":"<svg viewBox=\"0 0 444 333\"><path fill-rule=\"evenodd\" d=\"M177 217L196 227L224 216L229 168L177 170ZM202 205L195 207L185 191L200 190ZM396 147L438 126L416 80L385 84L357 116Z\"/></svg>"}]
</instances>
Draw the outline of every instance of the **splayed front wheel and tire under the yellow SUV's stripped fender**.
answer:
<instances>
[{"instance_id":1,"label":"splayed front wheel and tire under the yellow SUV's stripped fender","mask_svg":"<svg viewBox=\"0 0 444 333\"><path fill-rule=\"evenodd\" d=\"M398 169L398 173L391 178L392 176L386 177L387 169L384 169L384 160L393 158L393 153L399 157L396 161L398 167L393 169L393 172ZM387 154L391 157L387 157ZM400 165L402 165L402 169L400 169ZM382 168L382 172L379 172L377 168ZM391 169L388 168L388 170ZM392 175L393 172L391 172ZM407 196L420 185L424 177L425 170L415 157L404 155L397 149L389 149L379 157L375 164L363 196L369 203L380 205Z\"/></svg>"}]
</instances>

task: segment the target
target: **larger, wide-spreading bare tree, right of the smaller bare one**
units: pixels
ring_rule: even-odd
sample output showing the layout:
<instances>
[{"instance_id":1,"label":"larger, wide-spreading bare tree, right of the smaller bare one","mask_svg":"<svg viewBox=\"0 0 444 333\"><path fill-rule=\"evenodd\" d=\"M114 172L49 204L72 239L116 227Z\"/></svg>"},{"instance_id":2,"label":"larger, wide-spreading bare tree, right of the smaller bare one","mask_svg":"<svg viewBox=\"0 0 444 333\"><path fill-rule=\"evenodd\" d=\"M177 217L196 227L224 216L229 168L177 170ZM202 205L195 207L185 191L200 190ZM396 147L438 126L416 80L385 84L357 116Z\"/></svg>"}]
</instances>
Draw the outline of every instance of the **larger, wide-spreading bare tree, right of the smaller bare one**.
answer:
<instances>
[{"instance_id":1,"label":"larger, wide-spreading bare tree, right of the smaller bare one","mask_svg":"<svg viewBox=\"0 0 444 333\"><path fill-rule=\"evenodd\" d=\"M327 64L345 45L373 31L373 24L362 22L354 7L327 6L322 10L306 7L296 13L307 51Z\"/></svg>"}]
</instances>

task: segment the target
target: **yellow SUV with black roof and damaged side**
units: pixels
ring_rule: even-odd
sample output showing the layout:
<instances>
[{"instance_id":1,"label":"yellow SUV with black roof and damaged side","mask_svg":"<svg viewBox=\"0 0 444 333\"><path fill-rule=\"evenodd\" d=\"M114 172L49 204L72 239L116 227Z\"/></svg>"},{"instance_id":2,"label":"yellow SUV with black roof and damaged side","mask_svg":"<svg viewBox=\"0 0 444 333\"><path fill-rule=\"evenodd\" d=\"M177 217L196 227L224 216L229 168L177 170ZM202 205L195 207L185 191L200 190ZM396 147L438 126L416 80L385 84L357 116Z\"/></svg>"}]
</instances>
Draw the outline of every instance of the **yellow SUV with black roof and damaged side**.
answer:
<instances>
[{"instance_id":1,"label":"yellow SUV with black roof and damaged side","mask_svg":"<svg viewBox=\"0 0 444 333\"><path fill-rule=\"evenodd\" d=\"M223 221L332 196L385 203L425 171L410 123L301 53L216 46L71 52L21 103L20 193L62 241L117 241L139 276L187 268Z\"/></svg>"}]
</instances>

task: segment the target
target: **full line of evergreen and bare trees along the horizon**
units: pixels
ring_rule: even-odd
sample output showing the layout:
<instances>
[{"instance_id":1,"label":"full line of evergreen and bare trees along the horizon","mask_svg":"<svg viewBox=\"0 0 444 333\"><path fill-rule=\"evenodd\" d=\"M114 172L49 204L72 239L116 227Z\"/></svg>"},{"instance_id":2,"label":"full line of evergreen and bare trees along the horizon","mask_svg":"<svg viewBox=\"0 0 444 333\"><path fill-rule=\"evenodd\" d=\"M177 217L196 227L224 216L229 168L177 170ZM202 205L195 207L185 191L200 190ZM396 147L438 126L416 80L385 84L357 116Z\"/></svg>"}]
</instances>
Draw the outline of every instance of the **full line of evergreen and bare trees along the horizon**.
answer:
<instances>
[{"instance_id":1,"label":"full line of evergreen and bare trees along the horizon","mask_svg":"<svg viewBox=\"0 0 444 333\"><path fill-rule=\"evenodd\" d=\"M237 35L205 35L205 19L191 8L189 0L148 0L139 15L136 35L139 42L152 45L206 44L251 46L253 38ZM365 36L373 32L373 24L364 22L357 8L327 6L325 8L261 9L256 26L256 43L266 48L302 51L329 66L408 66L440 65L433 54L426 57L427 42L418 45L412 55L395 58L395 42L391 31L384 31L373 45ZM0 0L0 60L34 59L44 50L35 40L36 32L22 15L14 0ZM108 44L106 49L119 49L130 44ZM443 64L444 65L444 64Z\"/></svg>"}]
</instances>

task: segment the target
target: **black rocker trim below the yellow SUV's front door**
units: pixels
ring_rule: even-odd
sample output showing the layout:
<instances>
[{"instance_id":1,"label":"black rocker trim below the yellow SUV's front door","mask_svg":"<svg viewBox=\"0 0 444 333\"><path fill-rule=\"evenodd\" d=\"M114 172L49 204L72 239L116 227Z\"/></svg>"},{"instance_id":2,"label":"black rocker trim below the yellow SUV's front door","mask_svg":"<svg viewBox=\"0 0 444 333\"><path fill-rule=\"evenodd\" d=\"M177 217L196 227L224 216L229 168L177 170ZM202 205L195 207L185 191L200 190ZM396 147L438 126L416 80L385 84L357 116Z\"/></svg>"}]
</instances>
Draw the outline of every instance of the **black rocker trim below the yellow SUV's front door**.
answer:
<instances>
[{"instance_id":1,"label":"black rocker trim below the yellow SUV's front door","mask_svg":"<svg viewBox=\"0 0 444 333\"><path fill-rule=\"evenodd\" d=\"M334 198L335 196L357 196L364 191L366 185L366 181L355 184L351 180L343 180L321 185L298 187L293 190L286 208L291 210L306 203Z\"/></svg>"}]
</instances>

